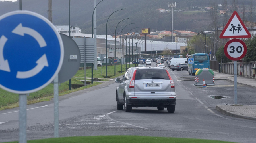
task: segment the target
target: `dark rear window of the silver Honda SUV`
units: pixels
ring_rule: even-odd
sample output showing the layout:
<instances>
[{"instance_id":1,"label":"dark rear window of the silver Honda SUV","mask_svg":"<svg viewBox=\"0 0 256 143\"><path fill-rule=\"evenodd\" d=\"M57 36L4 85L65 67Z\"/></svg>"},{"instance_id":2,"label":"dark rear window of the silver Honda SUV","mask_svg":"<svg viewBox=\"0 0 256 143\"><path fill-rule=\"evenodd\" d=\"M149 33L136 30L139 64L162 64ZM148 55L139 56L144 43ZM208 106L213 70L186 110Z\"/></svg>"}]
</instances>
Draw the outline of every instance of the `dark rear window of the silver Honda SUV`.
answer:
<instances>
[{"instance_id":1,"label":"dark rear window of the silver Honda SUV","mask_svg":"<svg viewBox=\"0 0 256 143\"><path fill-rule=\"evenodd\" d=\"M165 69L137 69L135 80L139 79L166 79L169 80L168 74Z\"/></svg>"}]
</instances>

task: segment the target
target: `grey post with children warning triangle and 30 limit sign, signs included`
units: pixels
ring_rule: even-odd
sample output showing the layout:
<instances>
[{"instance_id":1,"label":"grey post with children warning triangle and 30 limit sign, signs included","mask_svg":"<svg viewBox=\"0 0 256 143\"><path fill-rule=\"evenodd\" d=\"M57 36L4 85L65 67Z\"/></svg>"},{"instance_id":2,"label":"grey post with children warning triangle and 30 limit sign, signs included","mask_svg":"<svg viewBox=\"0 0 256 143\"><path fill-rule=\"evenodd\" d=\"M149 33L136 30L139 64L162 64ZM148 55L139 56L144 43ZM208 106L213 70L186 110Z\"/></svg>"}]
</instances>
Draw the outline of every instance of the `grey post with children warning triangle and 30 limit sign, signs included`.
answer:
<instances>
[{"instance_id":1,"label":"grey post with children warning triangle and 30 limit sign, signs included","mask_svg":"<svg viewBox=\"0 0 256 143\"><path fill-rule=\"evenodd\" d=\"M220 38L250 38L251 34L236 11L228 20ZM237 105L237 60L241 60L247 52L245 43L240 39L229 40L224 46L227 58L234 61L234 102Z\"/></svg>"}]
</instances>

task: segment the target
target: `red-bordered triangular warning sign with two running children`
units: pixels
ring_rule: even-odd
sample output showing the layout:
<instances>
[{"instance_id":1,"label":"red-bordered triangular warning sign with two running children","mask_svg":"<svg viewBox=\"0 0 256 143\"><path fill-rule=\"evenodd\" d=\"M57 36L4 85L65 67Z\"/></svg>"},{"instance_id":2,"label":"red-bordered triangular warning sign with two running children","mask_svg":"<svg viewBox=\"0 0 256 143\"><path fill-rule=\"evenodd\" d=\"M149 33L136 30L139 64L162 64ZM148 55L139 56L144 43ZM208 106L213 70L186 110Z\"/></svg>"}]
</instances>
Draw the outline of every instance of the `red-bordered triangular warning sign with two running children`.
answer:
<instances>
[{"instance_id":1,"label":"red-bordered triangular warning sign with two running children","mask_svg":"<svg viewBox=\"0 0 256 143\"><path fill-rule=\"evenodd\" d=\"M220 38L250 38L251 34L244 25L242 19L239 17L236 11L228 20L228 23L224 27Z\"/></svg>"}]
</instances>

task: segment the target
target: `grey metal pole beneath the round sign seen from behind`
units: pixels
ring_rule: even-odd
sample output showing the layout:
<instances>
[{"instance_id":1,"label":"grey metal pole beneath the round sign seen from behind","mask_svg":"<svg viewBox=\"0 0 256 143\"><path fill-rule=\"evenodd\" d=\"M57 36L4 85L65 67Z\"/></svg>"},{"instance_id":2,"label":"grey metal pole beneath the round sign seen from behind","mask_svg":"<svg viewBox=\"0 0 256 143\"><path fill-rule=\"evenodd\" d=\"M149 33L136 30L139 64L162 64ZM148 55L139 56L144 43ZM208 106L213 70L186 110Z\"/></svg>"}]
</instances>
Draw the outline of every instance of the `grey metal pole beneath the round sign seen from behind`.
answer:
<instances>
[{"instance_id":1,"label":"grey metal pole beneath the round sign seen from behind","mask_svg":"<svg viewBox=\"0 0 256 143\"><path fill-rule=\"evenodd\" d=\"M59 137L59 76L53 80L54 88L54 137Z\"/></svg>"}]
</instances>

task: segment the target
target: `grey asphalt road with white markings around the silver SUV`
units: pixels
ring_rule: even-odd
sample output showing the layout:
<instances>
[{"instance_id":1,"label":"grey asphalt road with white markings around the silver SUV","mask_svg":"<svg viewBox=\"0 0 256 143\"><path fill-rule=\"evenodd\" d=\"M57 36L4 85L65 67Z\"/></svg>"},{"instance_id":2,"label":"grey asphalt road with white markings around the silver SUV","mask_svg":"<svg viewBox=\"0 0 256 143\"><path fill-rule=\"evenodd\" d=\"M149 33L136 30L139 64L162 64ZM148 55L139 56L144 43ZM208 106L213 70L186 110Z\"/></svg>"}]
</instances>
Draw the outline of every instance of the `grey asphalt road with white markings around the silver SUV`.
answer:
<instances>
[{"instance_id":1,"label":"grey asphalt road with white markings around the silver SUV","mask_svg":"<svg viewBox=\"0 0 256 143\"><path fill-rule=\"evenodd\" d=\"M156 107L116 110L118 83L112 80L60 96L59 136L139 135L255 142L255 120L225 116L215 109L216 105L234 104L234 84L220 80L207 88L194 86L193 80L183 80L189 77L187 71L167 69L177 94L173 114ZM238 85L240 94L238 103L255 105L254 88ZM27 106L28 140L54 137L53 106L53 100ZM18 108L0 111L0 142L17 141L18 132Z\"/></svg>"}]
</instances>

